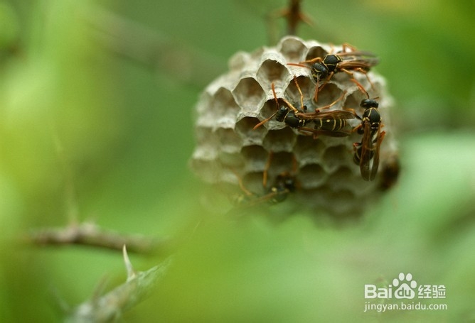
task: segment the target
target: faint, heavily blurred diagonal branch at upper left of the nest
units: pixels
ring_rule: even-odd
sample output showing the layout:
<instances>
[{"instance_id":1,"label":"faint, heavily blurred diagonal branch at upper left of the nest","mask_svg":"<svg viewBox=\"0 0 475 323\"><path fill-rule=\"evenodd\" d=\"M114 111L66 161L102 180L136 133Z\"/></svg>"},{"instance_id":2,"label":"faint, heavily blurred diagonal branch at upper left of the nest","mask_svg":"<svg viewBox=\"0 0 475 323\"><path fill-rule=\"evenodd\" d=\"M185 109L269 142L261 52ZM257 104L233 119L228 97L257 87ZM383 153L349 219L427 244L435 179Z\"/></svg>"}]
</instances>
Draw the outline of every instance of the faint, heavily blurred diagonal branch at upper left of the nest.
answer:
<instances>
[{"instance_id":1,"label":"faint, heavily blurred diagonal branch at upper left of the nest","mask_svg":"<svg viewBox=\"0 0 475 323\"><path fill-rule=\"evenodd\" d=\"M211 53L171 40L135 21L98 6L85 13L95 37L112 52L166 72L174 80L204 87L225 70L225 61Z\"/></svg>"}]
</instances>

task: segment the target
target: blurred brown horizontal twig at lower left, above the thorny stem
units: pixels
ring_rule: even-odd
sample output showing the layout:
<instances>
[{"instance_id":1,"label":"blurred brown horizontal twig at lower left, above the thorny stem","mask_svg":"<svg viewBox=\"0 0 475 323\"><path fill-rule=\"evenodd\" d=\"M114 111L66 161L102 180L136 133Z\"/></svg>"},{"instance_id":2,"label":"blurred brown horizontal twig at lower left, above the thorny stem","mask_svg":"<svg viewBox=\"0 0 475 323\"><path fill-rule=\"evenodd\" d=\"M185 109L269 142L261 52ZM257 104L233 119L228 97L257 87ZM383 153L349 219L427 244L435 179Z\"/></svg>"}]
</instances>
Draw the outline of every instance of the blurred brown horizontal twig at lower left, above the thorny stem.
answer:
<instances>
[{"instance_id":1,"label":"blurred brown horizontal twig at lower left, above the thorny stem","mask_svg":"<svg viewBox=\"0 0 475 323\"><path fill-rule=\"evenodd\" d=\"M28 241L41 246L82 245L120 251L124 245L134 253L152 253L165 249L168 241L157 241L144 236L124 236L114 231L100 229L95 224L72 224L65 228L33 231Z\"/></svg>"}]
</instances>

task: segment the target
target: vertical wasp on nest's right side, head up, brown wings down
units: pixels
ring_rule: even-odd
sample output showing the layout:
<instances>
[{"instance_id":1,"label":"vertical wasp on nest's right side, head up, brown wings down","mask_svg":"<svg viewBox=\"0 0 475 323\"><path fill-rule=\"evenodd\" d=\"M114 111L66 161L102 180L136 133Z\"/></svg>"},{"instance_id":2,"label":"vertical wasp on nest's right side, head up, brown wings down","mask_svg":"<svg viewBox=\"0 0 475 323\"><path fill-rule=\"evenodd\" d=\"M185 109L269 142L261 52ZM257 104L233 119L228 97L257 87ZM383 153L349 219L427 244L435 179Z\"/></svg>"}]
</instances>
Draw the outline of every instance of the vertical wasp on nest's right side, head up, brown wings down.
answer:
<instances>
[{"instance_id":1,"label":"vertical wasp on nest's right side, head up, brown wings down","mask_svg":"<svg viewBox=\"0 0 475 323\"><path fill-rule=\"evenodd\" d=\"M365 93L368 99L361 100L360 104L365 109L363 116L360 117L353 111L356 118L361 120L361 124L353 128L353 131L363 134L360 143L353 143L353 161L360 166L363 180L374 180L378 173L379 150L385 131L381 131L383 124L376 101L378 98L370 99L368 92Z\"/></svg>"}]
</instances>

